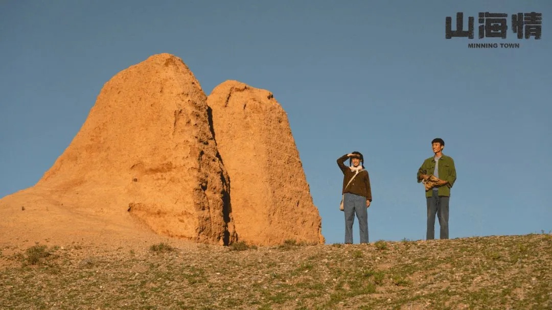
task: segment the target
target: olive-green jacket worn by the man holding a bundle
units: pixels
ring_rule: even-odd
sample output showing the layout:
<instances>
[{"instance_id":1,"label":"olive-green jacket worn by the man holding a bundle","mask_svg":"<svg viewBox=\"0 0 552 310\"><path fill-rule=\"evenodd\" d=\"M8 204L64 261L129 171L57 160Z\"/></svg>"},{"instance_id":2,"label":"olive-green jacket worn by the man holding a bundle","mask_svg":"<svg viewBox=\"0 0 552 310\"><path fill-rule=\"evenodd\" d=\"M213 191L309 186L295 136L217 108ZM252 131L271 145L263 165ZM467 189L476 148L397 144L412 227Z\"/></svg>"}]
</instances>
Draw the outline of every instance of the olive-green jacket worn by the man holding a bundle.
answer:
<instances>
[{"instance_id":1,"label":"olive-green jacket worn by the man holding a bundle","mask_svg":"<svg viewBox=\"0 0 552 310\"><path fill-rule=\"evenodd\" d=\"M432 175L434 170L435 158L432 156L423 161L422 166L418 169L418 174L416 175L418 183L422 181L420 177L422 174ZM452 157L443 154L443 156L439 159L439 179L448 181L448 183L443 186L439 186L439 191L437 192L438 195L450 197L450 188L452 188L454 181L456 181L456 168L454 167ZM426 197L431 197L432 195L433 189L426 191Z\"/></svg>"}]
</instances>

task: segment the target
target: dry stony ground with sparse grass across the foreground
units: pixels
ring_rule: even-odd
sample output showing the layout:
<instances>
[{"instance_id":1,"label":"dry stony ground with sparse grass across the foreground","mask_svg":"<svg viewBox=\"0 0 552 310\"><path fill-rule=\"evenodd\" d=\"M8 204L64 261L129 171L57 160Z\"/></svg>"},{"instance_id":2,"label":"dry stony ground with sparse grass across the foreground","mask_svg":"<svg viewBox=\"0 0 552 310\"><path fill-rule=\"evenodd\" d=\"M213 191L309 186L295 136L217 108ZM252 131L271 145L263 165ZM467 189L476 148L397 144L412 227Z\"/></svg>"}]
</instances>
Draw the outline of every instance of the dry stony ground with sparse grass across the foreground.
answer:
<instances>
[{"instance_id":1,"label":"dry stony ground with sparse grass across the foreground","mask_svg":"<svg viewBox=\"0 0 552 310\"><path fill-rule=\"evenodd\" d=\"M21 240L25 244L25 240ZM3 245L1 309L552 309L552 235Z\"/></svg>"}]
</instances>

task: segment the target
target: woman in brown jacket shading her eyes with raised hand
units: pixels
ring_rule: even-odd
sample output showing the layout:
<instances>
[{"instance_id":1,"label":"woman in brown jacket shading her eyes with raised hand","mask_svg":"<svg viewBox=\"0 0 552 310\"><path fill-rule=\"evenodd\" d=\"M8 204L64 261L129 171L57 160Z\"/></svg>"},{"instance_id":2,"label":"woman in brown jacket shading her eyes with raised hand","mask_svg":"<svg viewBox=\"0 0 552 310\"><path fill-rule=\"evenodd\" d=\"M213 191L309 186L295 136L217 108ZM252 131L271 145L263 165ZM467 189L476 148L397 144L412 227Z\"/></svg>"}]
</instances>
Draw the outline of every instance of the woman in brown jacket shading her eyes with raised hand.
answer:
<instances>
[{"instance_id":1,"label":"woman in brown jacket shading her eyes with raised hand","mask_svg":"<svg viewBox=\"0 0 552 310\"><path fill-rule=\"evenodd\" d=\"M344 162L349 159L349 167ZM360 243L368 243L368 207L372 201L370 177L364 168L360 152L345 154L337 159L343 172L343 212L345 213L345 243L353 243L354 215L357 215Z\"/></svg>"}]
</instances>

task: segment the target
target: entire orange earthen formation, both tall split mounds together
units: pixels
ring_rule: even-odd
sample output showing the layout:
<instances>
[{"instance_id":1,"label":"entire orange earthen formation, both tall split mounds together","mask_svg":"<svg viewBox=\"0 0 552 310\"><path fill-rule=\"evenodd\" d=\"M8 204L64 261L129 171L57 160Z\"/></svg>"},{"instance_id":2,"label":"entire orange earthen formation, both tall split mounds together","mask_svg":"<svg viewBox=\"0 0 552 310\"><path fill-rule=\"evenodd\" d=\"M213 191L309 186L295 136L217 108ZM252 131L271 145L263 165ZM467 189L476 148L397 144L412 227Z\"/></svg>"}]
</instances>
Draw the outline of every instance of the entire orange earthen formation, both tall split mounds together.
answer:
<instances>
[{"instance_id":1,"label":"entire orange earthen formation, both tall split mounds together","mask_svg":"<svg viewBox=\"0 0 552 310\"><path fill-rule=\"evenodd\" d=\"M105 83L35 186L0 200L0 236L14 239L145 231L208 244L324 242L272 94L225 82L208 99L180 58L153 55Z\"/></svg>"}]
</instances>

